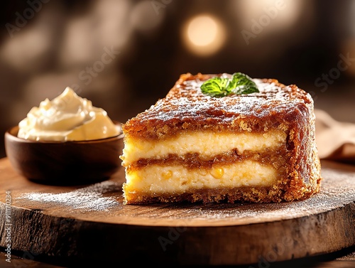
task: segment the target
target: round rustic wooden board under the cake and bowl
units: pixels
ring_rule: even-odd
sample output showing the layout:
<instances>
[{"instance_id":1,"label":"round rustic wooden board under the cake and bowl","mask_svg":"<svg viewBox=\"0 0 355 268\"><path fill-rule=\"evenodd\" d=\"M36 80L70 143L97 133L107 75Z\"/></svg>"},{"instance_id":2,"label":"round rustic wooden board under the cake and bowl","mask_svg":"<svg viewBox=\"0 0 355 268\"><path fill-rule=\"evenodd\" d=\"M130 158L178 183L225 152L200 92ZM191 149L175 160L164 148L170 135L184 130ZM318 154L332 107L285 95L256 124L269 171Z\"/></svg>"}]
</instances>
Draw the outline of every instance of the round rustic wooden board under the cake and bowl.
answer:
<instances>
[{"instance_id":1,"label":"round rustic wooden board under the cake and bowl","mask_svg":"<svg viewBox=\"0 0 355 268\"><path fill-rule=\"evenodd\" d=\"M0 160L0 174L0 246L6 247L10 223L11 250L30 256L265 267L355 245L355 166L332 161L322 161L320 193L278 204L124 205L123 169L83 186L28 181L7 159Z\"/></svg>"}]
</instances>

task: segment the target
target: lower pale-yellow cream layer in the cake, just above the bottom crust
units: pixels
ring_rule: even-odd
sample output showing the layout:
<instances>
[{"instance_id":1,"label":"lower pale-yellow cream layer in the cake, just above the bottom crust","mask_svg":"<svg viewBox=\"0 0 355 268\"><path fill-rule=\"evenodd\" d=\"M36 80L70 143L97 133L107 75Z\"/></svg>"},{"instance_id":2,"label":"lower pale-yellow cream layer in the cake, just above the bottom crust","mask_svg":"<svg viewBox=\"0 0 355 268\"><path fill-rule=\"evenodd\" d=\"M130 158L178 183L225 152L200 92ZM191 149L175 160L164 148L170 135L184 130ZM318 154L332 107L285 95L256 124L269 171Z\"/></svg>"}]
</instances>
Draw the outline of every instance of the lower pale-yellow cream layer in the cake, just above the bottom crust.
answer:
<instances>
[{"instance_id":1,"label":"lower pale-yellow cream layer in the cake, just above the bottom crust","mask_svg":"<svg viewBox=\"0 0 355 268\"><path fill-rule=\"evenodd\" d=\"M278 172L273 166L251 160L210 169L151 165L126 173L124 193L129 200L130 194L137 192L180 194L190 189L273 186L277 180Z\"/></svg>"}]
</instances>

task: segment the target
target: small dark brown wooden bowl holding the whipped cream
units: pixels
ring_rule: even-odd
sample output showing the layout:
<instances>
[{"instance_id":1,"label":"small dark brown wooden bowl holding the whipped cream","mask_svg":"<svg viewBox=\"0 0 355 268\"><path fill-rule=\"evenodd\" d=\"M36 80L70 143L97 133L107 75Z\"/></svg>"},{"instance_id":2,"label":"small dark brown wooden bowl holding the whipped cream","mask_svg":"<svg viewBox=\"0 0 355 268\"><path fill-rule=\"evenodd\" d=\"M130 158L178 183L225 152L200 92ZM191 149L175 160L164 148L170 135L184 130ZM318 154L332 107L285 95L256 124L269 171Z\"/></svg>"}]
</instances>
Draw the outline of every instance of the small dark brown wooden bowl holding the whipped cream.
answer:
<instances>
[{"instance_id":1,"label":"small dark brown wooden bowl holding the whipped cream","mask_svg":"<svg viewBox=\"0 0 355 268\"><path fill-rule=\"evenodd\" d=\"M18 138L18 126L5 133L5 151L22 176L45 184L78 185L104 181L121 166L124 147L118 136L90 141L31 141Z\"/></svg>"}]
</instances>

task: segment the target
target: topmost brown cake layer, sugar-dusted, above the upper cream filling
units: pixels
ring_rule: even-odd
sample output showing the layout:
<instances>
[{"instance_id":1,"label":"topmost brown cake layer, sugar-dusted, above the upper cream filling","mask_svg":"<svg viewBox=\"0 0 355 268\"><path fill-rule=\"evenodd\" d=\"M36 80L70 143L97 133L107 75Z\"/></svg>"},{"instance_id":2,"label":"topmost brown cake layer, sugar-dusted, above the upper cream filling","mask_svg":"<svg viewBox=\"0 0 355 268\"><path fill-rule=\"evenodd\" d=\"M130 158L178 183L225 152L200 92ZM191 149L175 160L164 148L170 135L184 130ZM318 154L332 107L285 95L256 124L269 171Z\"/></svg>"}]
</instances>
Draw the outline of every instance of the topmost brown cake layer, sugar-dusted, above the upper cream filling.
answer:
<instances>
[{"instance_id":1,"label":"topmost brown cake layer, sugar-dusted, above the upper cream filling","mask_svg":"<svg viewBox=\"0 0 355 268\"><path fill-rule=\"evenodd\" d=\"M307 92L278 80L255 79L260 92L210 97L202 94L204 80L220 75L181 75L168 95L123 126L127 136L159 139L185 130L212 132L266 129L302 129L313 117L313 101ZM307 126L308 127L308 126Z\"/></svg>"}]
</instances>

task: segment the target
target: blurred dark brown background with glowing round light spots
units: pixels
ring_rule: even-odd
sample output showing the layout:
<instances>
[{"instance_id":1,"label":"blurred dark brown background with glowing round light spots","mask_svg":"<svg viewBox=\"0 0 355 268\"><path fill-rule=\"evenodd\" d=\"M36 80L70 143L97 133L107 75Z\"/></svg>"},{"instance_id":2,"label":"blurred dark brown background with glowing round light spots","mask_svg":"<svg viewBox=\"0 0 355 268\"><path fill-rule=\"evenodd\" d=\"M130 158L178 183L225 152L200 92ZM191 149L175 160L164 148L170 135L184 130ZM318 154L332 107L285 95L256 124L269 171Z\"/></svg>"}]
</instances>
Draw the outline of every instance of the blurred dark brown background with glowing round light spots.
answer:
<instances>
[{"instance_id":1,"label":"blurred dark brown background with glowing round light spots","mask_svg":"<svg viewBox=\"0 0 355 268\"><path fill-rule=\"evenodd\" d=\"M0 14L2 134L67 86L125 122L199 72L294 83L355 122L355 0L9 0Z\"/></svg>"}]
</instances>

